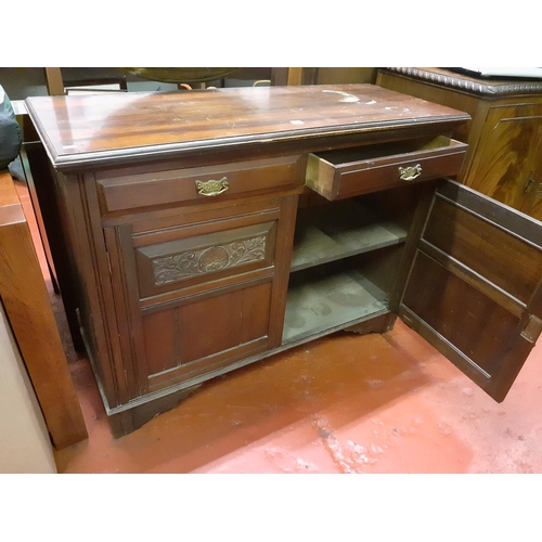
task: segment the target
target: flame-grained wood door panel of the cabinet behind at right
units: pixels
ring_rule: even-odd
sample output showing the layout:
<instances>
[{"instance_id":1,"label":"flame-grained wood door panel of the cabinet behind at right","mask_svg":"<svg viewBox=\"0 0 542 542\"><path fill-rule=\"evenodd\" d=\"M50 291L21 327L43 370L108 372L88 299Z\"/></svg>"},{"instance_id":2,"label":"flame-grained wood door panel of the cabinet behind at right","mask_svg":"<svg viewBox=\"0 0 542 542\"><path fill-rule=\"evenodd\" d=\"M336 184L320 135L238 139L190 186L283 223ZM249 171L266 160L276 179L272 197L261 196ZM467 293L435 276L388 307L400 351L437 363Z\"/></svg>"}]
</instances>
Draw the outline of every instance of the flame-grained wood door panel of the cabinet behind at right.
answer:
<instances>
[{"instance_id":1,"label":"flame-grained wood door panel of the cabinet behind at right","mask_svg":"<svg viewBox=\"0 0 542 542\"><path fill-rule=\"evenodd\" d=\"M540 169L541 140L542 104L491 107L466 184L525 210L526 186Z\"/></svg>"}]
</instances>

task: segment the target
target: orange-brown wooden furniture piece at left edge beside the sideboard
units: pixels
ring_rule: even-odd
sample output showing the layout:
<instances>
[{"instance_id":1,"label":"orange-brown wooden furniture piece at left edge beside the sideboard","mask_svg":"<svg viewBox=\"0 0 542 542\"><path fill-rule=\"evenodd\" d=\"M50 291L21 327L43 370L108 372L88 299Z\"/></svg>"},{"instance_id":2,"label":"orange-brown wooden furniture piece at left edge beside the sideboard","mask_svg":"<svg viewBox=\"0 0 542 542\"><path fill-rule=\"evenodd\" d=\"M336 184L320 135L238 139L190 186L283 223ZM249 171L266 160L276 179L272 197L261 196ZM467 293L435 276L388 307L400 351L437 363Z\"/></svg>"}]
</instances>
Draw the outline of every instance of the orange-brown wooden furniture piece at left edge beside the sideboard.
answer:
<instances>
[{"instance_id":1,"label":"orange-brown wooden furniture piece at left edge beside the sideboard","mask_svg":"<svg viewBox=\"0 0 542 542\"><path fill-rule=\"evenodd\" d=\"M0 171L0 297L56 449L87 438L30 230L9 172Z\"/></svg>"}]
</instances>

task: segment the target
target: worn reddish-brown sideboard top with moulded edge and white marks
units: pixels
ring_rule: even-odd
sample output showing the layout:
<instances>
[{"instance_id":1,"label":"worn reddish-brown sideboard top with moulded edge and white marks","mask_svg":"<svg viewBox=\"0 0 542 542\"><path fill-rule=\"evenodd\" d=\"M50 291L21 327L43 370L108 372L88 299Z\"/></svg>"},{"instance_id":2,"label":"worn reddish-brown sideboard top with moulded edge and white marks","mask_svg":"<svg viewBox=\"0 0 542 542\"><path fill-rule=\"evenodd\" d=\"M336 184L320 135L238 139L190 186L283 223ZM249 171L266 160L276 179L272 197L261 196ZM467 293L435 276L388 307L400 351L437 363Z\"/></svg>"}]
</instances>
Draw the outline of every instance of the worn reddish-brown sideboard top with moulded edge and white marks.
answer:
<instances>
[{"instance_id":1,"label":"worn reddish-brown sideboard top with moulded edge and white marks","mask_svg":"<svg viewBox=\"0 0 542 542\"><path fill-rule=\"evenodd\" d=\"M373 85L34 96L26 105L61 170L469 118Z\"/></svg>"}]
</instances>

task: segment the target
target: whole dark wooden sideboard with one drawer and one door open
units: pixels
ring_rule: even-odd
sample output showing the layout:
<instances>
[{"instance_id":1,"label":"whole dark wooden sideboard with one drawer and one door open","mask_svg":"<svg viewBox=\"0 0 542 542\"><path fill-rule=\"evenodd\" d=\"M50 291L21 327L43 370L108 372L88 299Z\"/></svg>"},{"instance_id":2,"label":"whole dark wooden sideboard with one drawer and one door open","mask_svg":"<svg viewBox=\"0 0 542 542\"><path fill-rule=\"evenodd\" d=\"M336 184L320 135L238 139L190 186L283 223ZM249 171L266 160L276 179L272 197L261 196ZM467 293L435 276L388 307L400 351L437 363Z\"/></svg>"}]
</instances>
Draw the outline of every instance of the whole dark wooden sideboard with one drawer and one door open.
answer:
<instances>
[{"instance_id":1,"label":"whole dark wooden sideboard with one drawer and one door open","mask_svg":"<svg viewBox=\"0 0 542 542\"><path fill-rule=\"evenodd\" d=\"M542 331L542 225L447 179L464 113L371 85L27 106L116 435L397 315L503 400Z\"/></svg>"}]
</instances>

